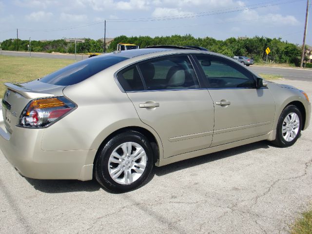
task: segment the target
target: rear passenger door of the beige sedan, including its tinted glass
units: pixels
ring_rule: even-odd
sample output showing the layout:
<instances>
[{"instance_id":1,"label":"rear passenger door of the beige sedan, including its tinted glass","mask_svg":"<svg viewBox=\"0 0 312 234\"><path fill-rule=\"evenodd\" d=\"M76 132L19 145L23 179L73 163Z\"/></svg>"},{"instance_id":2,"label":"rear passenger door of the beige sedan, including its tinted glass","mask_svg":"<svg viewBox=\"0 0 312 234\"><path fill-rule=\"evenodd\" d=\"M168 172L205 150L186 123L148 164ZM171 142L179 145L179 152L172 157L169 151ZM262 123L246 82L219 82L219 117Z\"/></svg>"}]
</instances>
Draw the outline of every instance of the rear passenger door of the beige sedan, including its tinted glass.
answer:
<instances>
[{"instance_id":1,"label":"rear passenger door of the beige sedan, including its tinted glass","mask_svg":"<svg viewBox=\"0 0 312 234\"><path fill-rule=\"evenodd\" d=\"M164 157L211 145L214 104L187 55L145 60L119 72L117 79L127 87L141 121L161 138Z\"/></svg>"}]
</instances>

